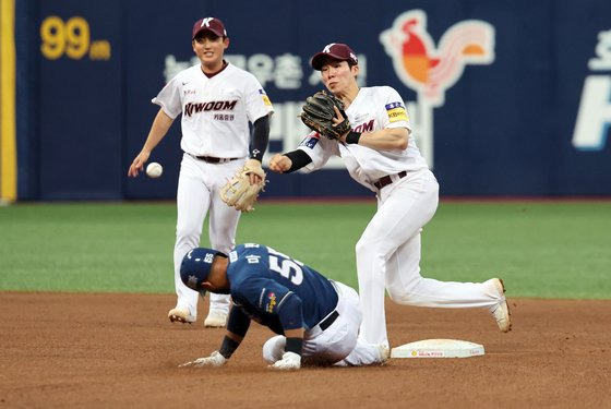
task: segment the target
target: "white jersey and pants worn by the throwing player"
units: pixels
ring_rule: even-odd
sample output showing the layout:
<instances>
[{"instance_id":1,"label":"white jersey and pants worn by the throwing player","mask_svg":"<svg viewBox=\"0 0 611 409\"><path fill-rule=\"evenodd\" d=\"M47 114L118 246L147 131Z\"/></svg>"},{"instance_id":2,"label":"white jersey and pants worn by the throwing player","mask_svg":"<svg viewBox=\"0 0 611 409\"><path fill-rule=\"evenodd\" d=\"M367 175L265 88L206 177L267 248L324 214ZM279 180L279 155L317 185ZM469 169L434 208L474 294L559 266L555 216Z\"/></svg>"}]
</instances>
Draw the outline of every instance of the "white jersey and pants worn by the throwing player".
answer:
<instances>
[{"instance_id":1,"label":"white jersey and pants worn by the throwing player","mask_svg":"<svg viewBox=\"0 0 611 409\"><path fill-rule=\"evenodd\" d=\"M357 132L411 130L404 101L388 86L360 88L346 115ZM313 132L299 149L312 159L307 171L323 167L332 155L340 156L350 176L376 193L378 212L356 245L360 336L366 341L388 344L384 288L393 301L408 305L492 308L501 301L503 296L489 282L444 282L420 275L420 231L438 207L439 184L411 134L406 149L376 151ZM381 178L388 184L379 189Z\"/></svg>"}]
</instances>

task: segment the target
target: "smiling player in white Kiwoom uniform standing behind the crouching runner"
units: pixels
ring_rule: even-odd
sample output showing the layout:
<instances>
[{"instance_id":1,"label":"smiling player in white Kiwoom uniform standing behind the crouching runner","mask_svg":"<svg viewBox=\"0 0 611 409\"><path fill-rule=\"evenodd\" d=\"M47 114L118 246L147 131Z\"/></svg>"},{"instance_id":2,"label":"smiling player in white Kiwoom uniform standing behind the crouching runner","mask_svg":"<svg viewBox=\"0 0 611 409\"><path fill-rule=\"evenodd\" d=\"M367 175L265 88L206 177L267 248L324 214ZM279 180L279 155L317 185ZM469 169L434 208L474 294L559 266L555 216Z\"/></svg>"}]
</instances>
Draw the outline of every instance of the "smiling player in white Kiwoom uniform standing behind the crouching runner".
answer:
<instances>
[{"instance_id":1,"label":"smiling player in white Kiwoom uniform standing behind the crouching runner","mask_svg":"<svg viewBox=\"0 0 611 409\"><path fill-rule=\"evenodd\" d=\"M273 112L259 81L223 59L229 38L220 20L200 19L192 34L191 44L200 64L178 73L153 98L153 103L160 106L159 112L128 172L130 177L139 175L151 152L182 113L180 147L184 154L178 179L173 251L178 301L168 313L171 322L181 323L195 322L199 297L180 280L182 257L200 244L208 210L212 248L226 253L233 248L240 212L221 202L219 190L244 163L251 169L261 169ZM249 122L253 124L250 146ZM261 181L254 173L249 177L251 183ZM211 294L209 314L204 325L225 326L228 311L228 296Z\"/></svg>"}]
</instances>

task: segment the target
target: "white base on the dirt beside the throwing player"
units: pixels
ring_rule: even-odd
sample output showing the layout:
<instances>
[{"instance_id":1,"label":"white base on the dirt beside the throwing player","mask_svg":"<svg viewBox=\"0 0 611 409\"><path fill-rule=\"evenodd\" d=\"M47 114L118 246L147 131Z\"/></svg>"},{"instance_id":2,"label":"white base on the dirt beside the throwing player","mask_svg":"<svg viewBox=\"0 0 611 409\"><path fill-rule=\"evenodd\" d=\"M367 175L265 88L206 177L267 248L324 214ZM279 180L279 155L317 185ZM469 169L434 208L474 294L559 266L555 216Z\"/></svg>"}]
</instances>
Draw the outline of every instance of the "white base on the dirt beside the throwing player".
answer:
<instances>
[{"instance_id":1,"label":"white base on the dirt beside the throwing player","mask_svg":"<svg viewBox=\"0 0 611 409\"><path fill-rule=\"evenodd\" d=\"M391 350L391 358L469 358L482 356L483 346L458 339L424 339Z\"/></svg>"}]
</instances>

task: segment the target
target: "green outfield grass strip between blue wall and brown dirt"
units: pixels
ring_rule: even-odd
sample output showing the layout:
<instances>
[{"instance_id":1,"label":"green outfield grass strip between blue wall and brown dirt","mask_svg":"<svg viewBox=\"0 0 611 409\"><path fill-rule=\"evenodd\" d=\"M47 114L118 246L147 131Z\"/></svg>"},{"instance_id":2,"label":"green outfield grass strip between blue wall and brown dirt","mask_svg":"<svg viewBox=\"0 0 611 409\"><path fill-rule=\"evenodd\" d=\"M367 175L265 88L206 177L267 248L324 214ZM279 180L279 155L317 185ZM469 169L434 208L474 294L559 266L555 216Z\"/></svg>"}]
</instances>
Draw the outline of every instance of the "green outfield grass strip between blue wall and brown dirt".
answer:
<instances>
[{"instance_id":1,"label":"green outfield grass strip between blue wall and brown dirt","mask_svg":"<svg viewBox=\"0 0 611 409\"><path fill-rule=\"evenodd\" d=\"M367 203L263 203L237 241L260 242L357 286ZM0 207L0 290L172 292L176 207ZM207 227L202 244L207 244ZM611 299L611 202L443 203L422 232L422 275L499 276L512 297Z\"/></svg>"}]
</instances>

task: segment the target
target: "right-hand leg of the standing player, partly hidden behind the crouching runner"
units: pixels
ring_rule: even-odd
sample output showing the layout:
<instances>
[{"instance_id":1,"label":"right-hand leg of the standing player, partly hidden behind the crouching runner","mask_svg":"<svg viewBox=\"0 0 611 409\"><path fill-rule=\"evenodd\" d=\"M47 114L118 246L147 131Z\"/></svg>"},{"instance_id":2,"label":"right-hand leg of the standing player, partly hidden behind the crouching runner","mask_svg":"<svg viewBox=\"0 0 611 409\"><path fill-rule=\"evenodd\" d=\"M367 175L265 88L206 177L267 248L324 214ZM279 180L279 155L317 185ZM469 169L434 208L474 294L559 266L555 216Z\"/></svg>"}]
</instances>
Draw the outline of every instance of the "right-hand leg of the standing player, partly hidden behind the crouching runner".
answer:
<instances>
[{"instance_id":1,"label":"right-hand leg of the standing player, partly hidden behind the crouching runner","mask_svg":"<svg viewBox=\"0 0 611 409\"><path fill-rule=\"evenodd\" d=\"M208 165L213 183L213 195L209 209L209 241L215 250L229 254L236 246L236 230L241 212L227 206L220 199L220 189L243 166L241 160L227 164ZM214 172L214 173L212 173ZM224 327L229 313L230 297L226 294L209 294L211 304L208 316L204 325L209 327Z\"/></svg>"}]
</instances>

